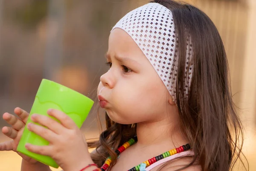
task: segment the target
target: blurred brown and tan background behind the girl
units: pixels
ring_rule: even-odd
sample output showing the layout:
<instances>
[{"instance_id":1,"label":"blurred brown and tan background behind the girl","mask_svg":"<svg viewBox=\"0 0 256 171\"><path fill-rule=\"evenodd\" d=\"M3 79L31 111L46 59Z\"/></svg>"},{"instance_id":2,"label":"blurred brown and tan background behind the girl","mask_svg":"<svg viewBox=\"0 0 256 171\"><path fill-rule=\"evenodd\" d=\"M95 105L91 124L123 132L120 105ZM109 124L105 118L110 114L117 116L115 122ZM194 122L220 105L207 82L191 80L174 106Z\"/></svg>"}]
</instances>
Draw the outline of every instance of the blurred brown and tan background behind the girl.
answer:
<instances>
[{"instance_id":1,"label":"blurred brown and tan background behind the girl","mask_svg":"<svg viewBox=\"0 0 256 171\"><path fill-rule=\"evenodd\" d=\"M227 50L231 86L245 128L243 152L256 171L256 0L183 0L213 20ZM148 0L0 0L0 113L28 112L42 78L95 99L111 27ZM96 106L96 105L95 105ZM93 109L82 126L99 136ZM102 122L104 125L104 122ZM7 126L0 117L0 128ZM103 127L104 128L104 127ZM0 133L0 142L9 140ZM0 152L0 171L19 171L21 158ZM53 171L59 169L52 168Z\"/></svg>"}]
</instances>

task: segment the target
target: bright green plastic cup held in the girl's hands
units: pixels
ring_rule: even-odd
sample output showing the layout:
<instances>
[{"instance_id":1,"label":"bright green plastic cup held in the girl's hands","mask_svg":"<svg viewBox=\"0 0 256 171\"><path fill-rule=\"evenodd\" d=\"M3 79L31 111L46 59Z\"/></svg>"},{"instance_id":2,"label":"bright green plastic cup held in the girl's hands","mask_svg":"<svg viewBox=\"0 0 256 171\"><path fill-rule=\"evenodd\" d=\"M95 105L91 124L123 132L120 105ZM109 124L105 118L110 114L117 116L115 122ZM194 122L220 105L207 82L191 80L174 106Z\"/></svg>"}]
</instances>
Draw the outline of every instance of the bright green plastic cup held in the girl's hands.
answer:
<instances>
[{"instance_id":1,"label":"bright green plastic cup held in the girl's hands","mask_svg":"<svg viewBox=\"0 0 256 171\"><path fill-rule=\"evenodd\" d=\"M35 154L26 150L26 143L33 145L49 145L47 140L28 130L27 125L32 122L31 115L37 113L49 116L47 114L47 110L49 108L58 109L70 116L78 128L81 128L93 106L93 103L93 100L76 92L75 90L53 81L43 79L35 96L35 101L31 108L20 142L17 146L17 151L53 168L58 168L58 164L51 157ZM49 117L55 119L52 116ZM55 120L58 121L57 119ZM32 123L36 124L35 122Z\"/></svg>"}]
</instances>

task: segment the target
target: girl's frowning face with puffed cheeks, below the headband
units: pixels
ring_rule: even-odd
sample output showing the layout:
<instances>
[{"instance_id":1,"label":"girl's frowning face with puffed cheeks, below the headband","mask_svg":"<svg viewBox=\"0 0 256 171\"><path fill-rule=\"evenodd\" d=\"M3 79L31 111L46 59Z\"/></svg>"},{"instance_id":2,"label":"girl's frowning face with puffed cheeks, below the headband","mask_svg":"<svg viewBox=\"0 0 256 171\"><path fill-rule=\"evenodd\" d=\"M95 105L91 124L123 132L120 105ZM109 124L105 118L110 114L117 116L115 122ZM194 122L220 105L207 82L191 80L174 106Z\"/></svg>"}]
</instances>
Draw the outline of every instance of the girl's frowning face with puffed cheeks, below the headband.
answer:
<instances>
[{"instance_id":1,"label":"girl's frowning face with puffed cheeks, below the headband","mask_svg":"<svg viewBox=\"0 0 256 171\"><path fill-rule=\"evenodd\" d=\"M111 32L106 58L110 69L100 78L98 95L108 116L120 124L156 122L165 117L169 92L122 29Z\"/></svg>"}]
</instances>

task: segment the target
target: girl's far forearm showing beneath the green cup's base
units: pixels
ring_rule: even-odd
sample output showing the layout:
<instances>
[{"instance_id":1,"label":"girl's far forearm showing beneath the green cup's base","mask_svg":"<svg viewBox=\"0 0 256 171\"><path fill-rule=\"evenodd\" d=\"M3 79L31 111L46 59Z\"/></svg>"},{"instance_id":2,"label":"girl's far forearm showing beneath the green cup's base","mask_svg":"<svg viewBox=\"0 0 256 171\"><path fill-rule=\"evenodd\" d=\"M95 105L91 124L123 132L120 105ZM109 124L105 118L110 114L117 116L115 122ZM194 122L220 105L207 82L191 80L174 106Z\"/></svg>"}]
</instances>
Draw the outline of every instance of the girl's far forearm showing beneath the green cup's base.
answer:
<instances>
[{"instance_id":1,"label":"girl's far forearm showing beneath the green cup's base","mask_svg":"<svg viewBox=\"0 0 256 171\"><path fill-rule=\"evenodd\" d=\"M29 163L22 159L20 171L52 171L49 166L44 165L41 162Z\"/></svg>"}]
</instances>

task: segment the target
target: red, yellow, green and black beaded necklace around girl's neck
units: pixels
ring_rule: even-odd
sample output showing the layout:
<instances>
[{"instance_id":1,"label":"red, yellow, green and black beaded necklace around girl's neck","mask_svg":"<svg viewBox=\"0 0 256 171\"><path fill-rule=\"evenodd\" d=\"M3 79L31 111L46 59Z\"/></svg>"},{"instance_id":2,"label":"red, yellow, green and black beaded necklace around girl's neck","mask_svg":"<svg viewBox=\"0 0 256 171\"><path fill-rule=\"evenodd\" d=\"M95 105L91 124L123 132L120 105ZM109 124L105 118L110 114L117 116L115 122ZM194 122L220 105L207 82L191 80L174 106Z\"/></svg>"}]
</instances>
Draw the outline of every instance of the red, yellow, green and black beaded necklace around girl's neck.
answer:
<instances>
[{"instance_id":1,"label":"red, yellow, green and black beaded necklace around girl's neck","mask_svg":"<svg viewBox=\"0 0 256 171\"><path fill-rule=\"evenodd\" d=\"M130 147L131 145L133 145L134 143L136 143L138 141L137 136L134 136L133 138L131 138L128 142L125 142L121 147L119 147L115 153L119 156L119 154L121 154L123 151L125 151L126 148ZM149 165L153 164L154 162L159 161L160 159L164 159L166 157L172 156L174 154L183 152L183 151L187 151L190 149L190 145L186 144L186 145L182 145L179 148L174 148L170 151L166 151L163 154L160 154L159 156L153 157L151 159L148 159L147 161L143 162L145 163L146 167L148 167ZM109 165L111 164L111 157L108 157L104 164L102 165L102 167L100 168L101 171L106 171L107 168L109 167ZM140 164L141 165L141 164ZM128 171L140 171L140 165L134 166L133 168L129 169Z\"/></svg>"}]
</instances>

